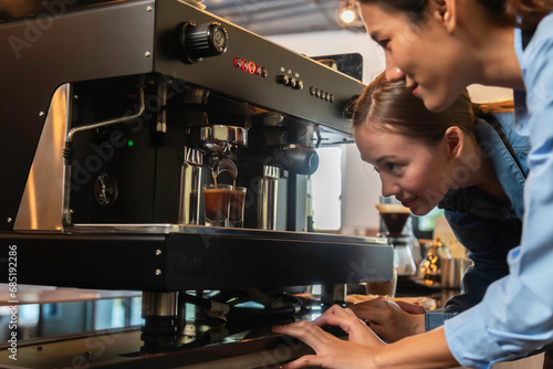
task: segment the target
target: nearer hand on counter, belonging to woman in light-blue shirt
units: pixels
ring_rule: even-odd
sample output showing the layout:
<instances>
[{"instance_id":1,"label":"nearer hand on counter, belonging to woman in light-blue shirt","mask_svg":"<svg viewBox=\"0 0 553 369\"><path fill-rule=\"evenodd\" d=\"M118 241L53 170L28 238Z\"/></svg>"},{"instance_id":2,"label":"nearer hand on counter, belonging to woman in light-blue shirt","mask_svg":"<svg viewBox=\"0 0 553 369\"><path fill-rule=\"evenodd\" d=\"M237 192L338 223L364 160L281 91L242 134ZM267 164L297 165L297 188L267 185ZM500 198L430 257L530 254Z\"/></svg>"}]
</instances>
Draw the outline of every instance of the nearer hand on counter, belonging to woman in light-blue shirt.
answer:
<instances>
[{"instance_id":1,"label":"nearer hand on counter, belonging to woman in light-blue shirt","mask_svg":"<svg viewBox=\"0 0 553 369\"><path fill-rule=\"evenodd\" d=\"M342 328L348 340L323 330L324 326ZM273 331L301 339L316 352L281 366L283 369L321 366L323 368L368 368L375 351L385 347L383 342L355 314L347 308L334 305L313 321L299 321L274 326Z\"/></svg>"}]
</instances>

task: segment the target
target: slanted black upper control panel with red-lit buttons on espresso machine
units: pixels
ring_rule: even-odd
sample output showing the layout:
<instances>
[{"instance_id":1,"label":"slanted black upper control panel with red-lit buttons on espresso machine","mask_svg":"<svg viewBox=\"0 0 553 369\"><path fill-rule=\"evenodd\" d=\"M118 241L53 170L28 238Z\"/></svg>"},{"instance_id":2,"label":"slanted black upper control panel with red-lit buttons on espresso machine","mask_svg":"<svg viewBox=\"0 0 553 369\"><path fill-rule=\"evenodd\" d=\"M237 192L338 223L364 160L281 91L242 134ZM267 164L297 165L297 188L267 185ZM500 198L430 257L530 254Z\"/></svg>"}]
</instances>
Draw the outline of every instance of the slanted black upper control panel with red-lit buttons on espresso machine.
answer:
<instances>
[{"instance_id":1,"label":"slanted black upper control panel with red-lit buttons on espresso machine","mask_svg":"<svg viewBox=\"0 0 553 369\"><path fill-rule=\"evenodd\" d=\"M200 62L182 60L171 34L188 23L219 24L226 51ZM342 133L349 127L344 108L364 88L353 77L177 0L156 2L155 42L156 72Z\"/></svg>"}]
</instances>

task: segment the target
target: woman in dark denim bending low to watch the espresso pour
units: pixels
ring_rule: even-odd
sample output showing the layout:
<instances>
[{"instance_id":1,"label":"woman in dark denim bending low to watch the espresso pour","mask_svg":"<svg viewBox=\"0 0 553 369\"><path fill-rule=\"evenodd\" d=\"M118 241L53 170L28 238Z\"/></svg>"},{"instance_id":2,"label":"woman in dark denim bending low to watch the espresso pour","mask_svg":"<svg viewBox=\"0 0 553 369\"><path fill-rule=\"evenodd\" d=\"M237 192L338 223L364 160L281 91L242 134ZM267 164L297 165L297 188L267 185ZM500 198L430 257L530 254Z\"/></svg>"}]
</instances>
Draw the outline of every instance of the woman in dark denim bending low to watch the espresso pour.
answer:
<instances>
[{"instance_id":1,"label":"woman in dark denim bending low to watch the espresso pour","mask_svg":"<svg viewBox=\"0 0 553 369\"><path fill-rule=\"evenodd\" d=\"M444 310L409 314L426 312L403 303L406 312L384 299L352 306L380 338L395 341L439 327L445 319L478 304L492 282L509 274L507 254L520 244L522 233L522 191L530 149L528 137L517 135L513 126L512 102L472 104L463 92L448 109L432 113L404 82L389 83L384 74L358 98L353 120L355 141L365 160L374 164L376 159L371 157L386 158L375 165L383 194L403 200L417 215L436 205L445 209L447 221L474 262L463 277L461 294L449 299ZM451 127L459 130L452 133ZM456 159L462 165L451 175L440 172L434 161L421 165L406 144L419 140L436 147L447 134L449 139L462 134L465 140L477 144ZM389 144L390 136L397 147ZM432 152L434 159L449 155ZM415 169L410 169L411 160L417 160ZM426 175L428 170L431 176Z\"/></svg>"}]
</instances>

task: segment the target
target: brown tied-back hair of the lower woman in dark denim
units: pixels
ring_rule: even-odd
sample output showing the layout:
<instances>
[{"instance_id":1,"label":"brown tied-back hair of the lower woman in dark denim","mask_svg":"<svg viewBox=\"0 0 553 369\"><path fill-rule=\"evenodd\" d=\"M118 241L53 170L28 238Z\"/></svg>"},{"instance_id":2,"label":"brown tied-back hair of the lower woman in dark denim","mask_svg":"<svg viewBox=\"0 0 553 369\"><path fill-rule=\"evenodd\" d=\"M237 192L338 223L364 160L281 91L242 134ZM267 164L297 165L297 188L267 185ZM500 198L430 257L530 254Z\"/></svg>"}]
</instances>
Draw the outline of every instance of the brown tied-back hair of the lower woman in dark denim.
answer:
<instances>
[{"instance_id":1,"label":"brown tied-back hair of the lower woman in dark denim","mask_svg":"<svg viewBox=\"0 0 553 369\"><path fill-rule=\"evenodd\" d=\"M398 133L432 146L451 126L473 137L478 117L504 112L513 112L512 101L473 104L465 91L448 109L434 113L405 87L404 81L388 82L382 73L357 99L352 126Z\"/></svg>"}]
</instances>

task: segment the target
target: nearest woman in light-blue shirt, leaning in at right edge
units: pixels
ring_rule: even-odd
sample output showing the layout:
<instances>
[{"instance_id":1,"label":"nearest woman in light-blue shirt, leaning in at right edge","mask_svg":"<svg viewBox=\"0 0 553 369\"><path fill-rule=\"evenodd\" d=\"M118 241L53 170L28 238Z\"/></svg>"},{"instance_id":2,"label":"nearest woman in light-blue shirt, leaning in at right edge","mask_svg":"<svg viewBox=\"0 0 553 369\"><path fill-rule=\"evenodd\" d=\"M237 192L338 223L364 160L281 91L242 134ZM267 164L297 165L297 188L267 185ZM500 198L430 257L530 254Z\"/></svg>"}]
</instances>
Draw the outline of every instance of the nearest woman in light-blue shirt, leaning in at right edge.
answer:
<instances>
[{"instance_id":1,"label":"nearest woman in light-blue shirt, leaning in at right edge","mask_svg":"<svg viewBox=\"0 0 553 369\"><path fill-rule=\"evenodd\" d=\"M553 342L553 1L359 2L367 32L384 48L388 81L405 81L430 110L444 110L472 83L525 91L514 95L515 129L531 143L524 229L509 275L444 327L384 345L352 312L334 308L317 324L340 325L351 341L313 324L276 327L317 354L288 368L489 368Z\"/></svg>"}]
</instances>

